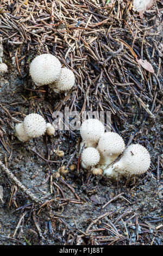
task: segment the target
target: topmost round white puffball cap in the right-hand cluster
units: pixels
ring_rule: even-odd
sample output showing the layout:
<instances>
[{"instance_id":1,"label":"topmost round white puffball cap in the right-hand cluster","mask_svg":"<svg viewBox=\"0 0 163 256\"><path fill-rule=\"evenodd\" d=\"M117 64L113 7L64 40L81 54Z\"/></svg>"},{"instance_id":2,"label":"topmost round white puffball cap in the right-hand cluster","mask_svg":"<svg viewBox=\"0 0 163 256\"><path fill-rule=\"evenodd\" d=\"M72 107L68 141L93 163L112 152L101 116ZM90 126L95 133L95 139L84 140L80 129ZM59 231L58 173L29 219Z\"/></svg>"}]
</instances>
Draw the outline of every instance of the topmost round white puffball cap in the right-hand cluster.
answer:
<instances>
[{"instance_id":1,"label":"topmost round white puffball cap in the right-hand cluster","mask_svg":"<svg viewBox=\"0 0 163 256\"><path fill-rule=\"evenodd\" d=\"M80 135L83 141L98 143L100 137L105 132L105 127L98 119L87 119L80 127Z\"/></svg>"}]
</instances>

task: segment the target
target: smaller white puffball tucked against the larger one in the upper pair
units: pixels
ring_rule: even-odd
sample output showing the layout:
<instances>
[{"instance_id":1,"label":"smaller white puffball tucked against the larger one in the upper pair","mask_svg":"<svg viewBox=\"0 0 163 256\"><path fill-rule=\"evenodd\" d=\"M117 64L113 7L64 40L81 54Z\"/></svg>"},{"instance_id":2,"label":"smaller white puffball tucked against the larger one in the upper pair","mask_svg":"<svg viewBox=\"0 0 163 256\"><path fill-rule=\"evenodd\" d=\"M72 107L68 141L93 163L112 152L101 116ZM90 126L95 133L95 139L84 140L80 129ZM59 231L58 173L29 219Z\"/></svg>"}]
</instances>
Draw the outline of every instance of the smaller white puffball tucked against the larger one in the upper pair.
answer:
<instances>
[{"instance_id":1,"label":"smaller white puffball tucked against the larger one in the upper pair","mask_svg":"<svg viewBox=\"0 0 163 256\"><path fill-rule=\"evenodd\" d=\"M55 93L70 90L74 86L75 77L70 69L62 68L60 76L51 85Z\"/></svg>"}]
</instances>

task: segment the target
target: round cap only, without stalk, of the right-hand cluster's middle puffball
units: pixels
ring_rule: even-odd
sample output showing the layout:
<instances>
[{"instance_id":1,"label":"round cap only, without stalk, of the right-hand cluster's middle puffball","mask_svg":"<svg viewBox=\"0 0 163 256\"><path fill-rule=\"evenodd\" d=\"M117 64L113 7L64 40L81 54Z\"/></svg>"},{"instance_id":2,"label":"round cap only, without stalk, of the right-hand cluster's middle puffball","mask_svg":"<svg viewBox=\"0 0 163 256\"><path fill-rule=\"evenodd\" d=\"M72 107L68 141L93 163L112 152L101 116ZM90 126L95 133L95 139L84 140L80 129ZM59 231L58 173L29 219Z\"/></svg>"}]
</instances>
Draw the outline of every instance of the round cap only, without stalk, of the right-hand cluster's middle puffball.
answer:
<instances>
[{"instance_id":1,"label":"round cap only, without stalk, of the right-hand cluster's middle puffball","mask_svg":"<svg viewBox=\"0 0 163 256\"><path fill-rule=\"evenodd\" d=\"M98 142L98 150L103 155L120 155L124 148L123 138L116 132L105 132Z\"/></svg>"}]
</instances>

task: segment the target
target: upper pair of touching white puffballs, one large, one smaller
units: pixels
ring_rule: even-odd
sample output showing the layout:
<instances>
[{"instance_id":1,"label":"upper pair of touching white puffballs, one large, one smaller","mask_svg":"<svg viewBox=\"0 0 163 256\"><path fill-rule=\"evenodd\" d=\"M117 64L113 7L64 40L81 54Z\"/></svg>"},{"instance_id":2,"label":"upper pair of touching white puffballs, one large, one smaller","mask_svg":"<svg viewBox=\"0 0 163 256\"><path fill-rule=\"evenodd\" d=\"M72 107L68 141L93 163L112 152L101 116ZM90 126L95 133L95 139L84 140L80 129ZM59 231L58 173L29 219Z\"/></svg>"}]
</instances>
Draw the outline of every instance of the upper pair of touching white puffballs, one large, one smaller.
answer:
<instances>
[{"instance_id":1,"label":"upper pair of touching white puffballs, one large, one smaller","mask_svg":"<svg viewBox=\"0 0 163 256\"><path fill-rule=\"evenodd\" d=\"M59 59L52 54L36 56L29 68L30 76L36 86L48 85L55 93L70 90L75 77L67 68L61 68Z\"/></svg>"}]
</instances>

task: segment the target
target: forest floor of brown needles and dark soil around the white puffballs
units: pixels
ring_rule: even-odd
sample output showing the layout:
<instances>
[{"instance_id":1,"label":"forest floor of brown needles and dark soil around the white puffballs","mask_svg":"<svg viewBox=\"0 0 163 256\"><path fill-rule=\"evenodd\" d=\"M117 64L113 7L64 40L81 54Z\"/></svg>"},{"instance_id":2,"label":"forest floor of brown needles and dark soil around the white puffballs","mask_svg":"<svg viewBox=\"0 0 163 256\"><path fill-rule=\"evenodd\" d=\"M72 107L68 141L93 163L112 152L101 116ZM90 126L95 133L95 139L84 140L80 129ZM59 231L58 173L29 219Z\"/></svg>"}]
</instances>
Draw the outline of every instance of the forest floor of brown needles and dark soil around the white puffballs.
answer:
<instances>
[{"instance_id":1,"label":"forest floor of brown needles and dark soil around the white puffballs","mask_svg":"<svg viewBox=\"0 0 163 256\"><path fill-rule=\"evenodd\" d=\"M154 1L140 17L133 1L106 2L0 4L2 60L8 65L0 77L0 161L30 191L0 166L0 245L163 244L163 8ZM54 54L74 72L70 92L35 86L29 64L42 53ZM53 112L64 113L65 107L80 115L110 111L111 130L126 145L148 149L148 172L118 181L88 174L78 164L79 131L56 131L26 143L14 136L14 126L27 114L52 123ZM56 178L61 166L68 173Z\"/></svg>"}]
</instances>

